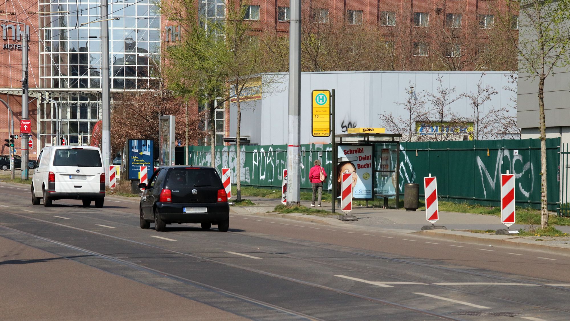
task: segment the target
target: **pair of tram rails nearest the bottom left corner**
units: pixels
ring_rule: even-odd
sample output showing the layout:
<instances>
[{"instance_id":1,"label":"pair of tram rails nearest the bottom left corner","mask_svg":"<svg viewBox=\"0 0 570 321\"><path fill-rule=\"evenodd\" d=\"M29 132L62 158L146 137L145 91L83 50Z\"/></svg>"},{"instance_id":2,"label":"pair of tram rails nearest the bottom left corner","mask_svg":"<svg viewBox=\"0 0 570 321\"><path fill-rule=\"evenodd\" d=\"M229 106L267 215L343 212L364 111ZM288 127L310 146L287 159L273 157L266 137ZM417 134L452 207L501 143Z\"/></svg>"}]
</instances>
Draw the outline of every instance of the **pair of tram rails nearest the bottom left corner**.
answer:
<instances>
[{"instance_id":1,"label":"pair of tram rails nearest the bottom left corner","mask_svg":"<svg viewBox=\"0 0 570 321\"><path fill-rule=\"evenodd\" d=\"M357 294L356 292L344 291L344 290L340 290L340 289L337 289L337 288L327 287L327 286L323 286L323 285L316 284L316 283L311 283L311 282L306 282L306 281L299 280L299 279L295 279L295 278L290 278L290 277L288 277L288 276L283 276L283 275L278 275L278 274L274 274L274 273L270 273L270 272L260 271L260 270L257 270L257 269L255 269L255 268L249 268L249 267L245 267L245 266L239 266L239 265L237 265L237 264L232 264L232 263L227 263L227 262L221 262L221 261L219 261L219 260L214 260L214 259L210 259L210 258L205 258L205 257L203 257L203 256L198 256L198 255L193 255L193 254L187 254L187 253L184 253L184 252L180 252L180 251L176 251L176 250L171 250L171 249L165 248L165 247L155 246L155 245L148 244L148 243L143 243L143 242L137 242L137 241L135 241L135 240L129 240L129 239L125 239L125 238L120 238L119 236L108 235L108 234L104 234L104 233L101 233L101 232L89 231L89 230L85 230L85 229L83 229L83 228L78 228L78 227L66 226L66 225L60 224L60 223L52 223L52 222L49 222L49 221L46 221L46 220L42 220L42 219L29 218L29 217L26 217L25 215L19 215L19 214L12 214L12 215L22 216L22 217L27 218L27 219L38 220L38 221L40 221L40 222L51 223L51 224L57 224L57 225L59 225L59 226L68 227L68 228L73 228L74 230L83 231L83 232L88 232L88 233L92 233L92 234L97 234L97 235L100 235L100 236L106 236L106 237L109 237L109 238L122 240L122 241L124 241L124 242L135 243L135 244L138 244L138 245L141 245L141 246L151 247L151 248L154 248L154 249L156 249L156 250L171 252L171 253L177 254L177 255L188 256L188 257L194 258L194 259L207 260L207 261L210 261L210 262L213 262L213 263L223 264L223 265L225 265L225 266L229 266L229 267L233 267L233 268L239 268L239 269L242 269L242 270L247 270L247 271L254 272L254 273L258 273L258 274L263 274L263 275L271 276L271 277L273 277L273 278L278 278L278 279L286 280L286 281L289 281L289 282L294 282L294 283L298 283L298 284L303 284L304 286L311 286L311 287L315 287L315 288L320 288L320 289L322 289L322 290L332 291L332 292L335 292L335 293L337 293L337 294L349 295L349 296L353 296L353 297L359 298L359 299L364 299L364 300L367 300L367 301L370 301L370 302L373 302L373 303L384 304L384 305L386 305L386 306L390 306L390 307L394 307L394 308L400 308L400 309L402 309L402 310L407 310L407 311L410 311L410 312L416 312L416 313L418 313L418 314L422 314L422 315L425 315L425 316L433 316L433 317L435 317L435 318L440 318L440 319L444 319L444 320L461 320L461 319L453 318L453 317L446 316L446 315L443 315L443 314L438 314L438 313L435 313L435 312L430 312L430 311L421 310L421 309L418 309L418 308L413 308L413 307L405 306L404 304L399 304L399 303L396 303L396 302L389 302L389 301L387 301L387 300L381 300L381 299L377 299L377 298L372 298L372 297L370 297L370 296L365 296L365 295ZM46 238L46 237L43 237L43 236L39 236L39 235L35 235L35 234L32 234L32 233L29 233L29 232L26 232L26 231L21 231L21 230L18 230L17 228L7 227L7 226L4 226L4 225L2 225L2 224L0 224L0 228L3 228L3 229L8 230L8 231L12 231L12 232L17 232L17 233L22 234L22 235L31 236L32 238L40 239L40 240L43 240L43 241L46 241L46 242L54 243L54 244L57 244L57 245L59 245L59 246L71 248L72 250L82 251L82 252L85 252L85 253L87 253L87 254L94 255L94 256L97 256L97 257L102 258L102 259L105 259L105 260L110 260L110 261L115 262L115 263L120 263L120 264L124 264L124 265L126 265L126 266L129 266L129 267L136 268L137 270L148 271L148 272L152 272L153 274L158 274L158 275L166 276L166 277L168 277L168 278L171 278L171 279L174 279L174 280L178 280L178 281L183 282L183 283L185 283L185 284L189 284L189 285L192 285L192 286L204 287L204 288L207 288L207 289L209 289L209 290L211 290L211 291L215 291L215 292L219 292L219 293L221 293L221 294L233 296L234 298L241 299L241 300L244 300L244 301L246 301L246 302L253 303L253 304L259 304L259 305L261 305L261 306L268 307L268 308L272 308L272 309L277 310L277 311L286 312L287 314L290 314L290 315L299 316L299 317L302 317L302 318L305 318L305 319L308 319L308 320L322 320L322 319L319 319L319 318L315 318L314 316L310 316L310 315L303 314L302 312L293 311L293 310L288 309L288 308L276 306L275 304L271 304L271 303L268 303L268 302L263 302L263 301L260 301L260 300L257 300L257 299L249 298L248 296L244 296L244 295L237 294L237 293L235 293L235 292L230 292L230 291L227 291L227 290L223 290L222 288L213 287L213 286L210 286L209 284L197 282L197 281L190 280L190 279L187 279L187 278L182 278L181 276L169 274L168 272L164 272L164 271L160 271L160 270L155 270L155 269L153 269L153 268L149 268L149 267L143 266L143 265L141 265L141 264L136 264L136 263L133 263L133 262L128 262L127 260L123 260L123 259L120 259L120 258L115 258L115 257L113 257L113 256L109 256L109 255L101 254L101 253L98 253L98 252L95 252L95 251L87 250L87 249L85 249L85 248L77 247L77 246L74 246L74 245L72 245L72 244L68 244L68 243L64 243L64 242L59 242L58 240L53 240L53 239L50 239L50 238Z\"/></svg>"}]
</instances>

